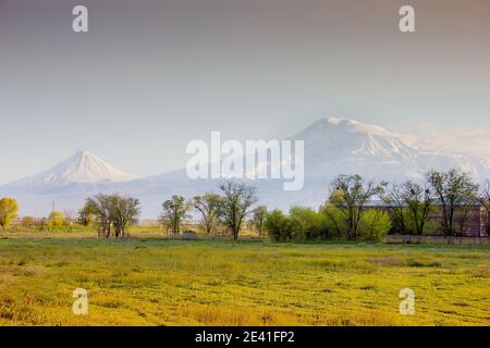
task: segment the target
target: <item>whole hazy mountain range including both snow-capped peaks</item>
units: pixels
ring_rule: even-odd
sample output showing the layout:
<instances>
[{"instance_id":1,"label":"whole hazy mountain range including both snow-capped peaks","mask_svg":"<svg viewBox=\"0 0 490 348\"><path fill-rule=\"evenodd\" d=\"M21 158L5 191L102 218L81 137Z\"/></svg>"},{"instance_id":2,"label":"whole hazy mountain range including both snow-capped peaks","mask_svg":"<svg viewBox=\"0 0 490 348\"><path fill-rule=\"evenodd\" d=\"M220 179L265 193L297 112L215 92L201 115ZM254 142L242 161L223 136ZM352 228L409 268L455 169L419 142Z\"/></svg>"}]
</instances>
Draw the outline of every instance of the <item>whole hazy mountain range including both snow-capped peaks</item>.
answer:
<instances>
[{"instance_id":1,"label":"whole hazy mountain range including both snow-capped peaks","mask_svg":"<svg viewBox=\"0 0 490 348\"><path fill-rule=\"evenodd\" d=\"M348 119L322 119L290 137L304 140L305 184L302 190L284 191L283 181L250 181L260 202L269 208L293 204L318 207L331 181L339 174L359 174L366 179L422 181L429 169L461 167L478 182L490 178L490 160L461 153L429 151L406 145L396 133ZM217 190L219 179L189 179L185 170L131 179L86 151L41 174L0 187L0 196L20 201L22 214L46 215L57 209L77 210L97 192L132 195L142 201L143 217L155 219L172 195L191 198Z\"/></svg>"}]
</instances>

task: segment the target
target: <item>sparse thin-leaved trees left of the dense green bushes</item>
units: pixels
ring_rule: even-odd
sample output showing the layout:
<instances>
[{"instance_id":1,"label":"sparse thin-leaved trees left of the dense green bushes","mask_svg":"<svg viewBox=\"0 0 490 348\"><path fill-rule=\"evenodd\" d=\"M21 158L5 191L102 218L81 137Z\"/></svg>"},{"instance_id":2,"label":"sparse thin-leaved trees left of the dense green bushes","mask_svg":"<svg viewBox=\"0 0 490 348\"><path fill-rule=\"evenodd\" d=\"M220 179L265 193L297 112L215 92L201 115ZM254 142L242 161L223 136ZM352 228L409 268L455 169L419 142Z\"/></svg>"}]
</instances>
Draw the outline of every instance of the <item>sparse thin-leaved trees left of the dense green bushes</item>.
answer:
<instances>
[{"instance_id":1,"label":"sparse thin-leaved trees left of the dense green bushes","mask_svg":"<svg viewBox=\"0 0 490 348\"><path fill-rule=\"evenodd\" d=\"M191 200L172 196L162 203L160 223L177 235L194 210L200 215L206 233L210 234L218 226L224 226L237 239L244 222L253 212L252 207L258 200L256 188L233 182L225 182L219 188L221 195L206 192ZM99 194L86 200L78 215L81 224L98 227L99 237L124 238L127 236L127 226L137 223L139 212L139 201L136 198Z\"/></svg>"}]
</instances>

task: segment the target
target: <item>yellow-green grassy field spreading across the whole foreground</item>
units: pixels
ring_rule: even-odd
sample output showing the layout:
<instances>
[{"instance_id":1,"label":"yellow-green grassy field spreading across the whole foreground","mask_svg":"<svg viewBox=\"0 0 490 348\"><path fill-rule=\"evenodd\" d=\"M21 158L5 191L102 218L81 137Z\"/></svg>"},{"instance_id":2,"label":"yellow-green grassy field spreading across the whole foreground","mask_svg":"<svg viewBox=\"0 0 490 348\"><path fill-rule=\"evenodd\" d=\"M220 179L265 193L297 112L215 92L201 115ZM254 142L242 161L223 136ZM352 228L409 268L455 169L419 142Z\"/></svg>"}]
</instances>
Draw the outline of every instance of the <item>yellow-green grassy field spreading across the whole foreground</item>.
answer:
<instances>
[{"instance_id":1,"label":"yellow-green grassy field spreading across the whole foreground","mask_svg":"<svg viewBox=\"0 0 490 348\"><path fill-rule=\"evenodd\" d=\"M2 233L0 324L490 325L490 248Z\"/></svg>"}]
</instances>

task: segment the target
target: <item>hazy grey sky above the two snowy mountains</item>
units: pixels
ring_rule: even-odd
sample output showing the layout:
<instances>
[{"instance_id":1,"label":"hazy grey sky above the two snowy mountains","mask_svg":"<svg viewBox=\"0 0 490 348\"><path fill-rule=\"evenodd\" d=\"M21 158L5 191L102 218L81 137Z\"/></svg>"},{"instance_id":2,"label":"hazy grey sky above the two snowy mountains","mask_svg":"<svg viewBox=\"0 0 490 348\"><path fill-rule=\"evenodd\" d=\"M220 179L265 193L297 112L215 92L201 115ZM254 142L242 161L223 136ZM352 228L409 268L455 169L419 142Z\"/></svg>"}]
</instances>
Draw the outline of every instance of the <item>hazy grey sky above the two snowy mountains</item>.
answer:
<instances>
[{"instance_id":1,"label":"hazy grey sky above the two snowy mountains","mask_svg":"<svg viewBox=\"0 0 490 348\"><path fill-rule=\"evenodd\" d=\"M160 174L211 130L281 139L328 116L490 151L489 35L488 0L0 0L0 184L82 149Z\"/></svg>"}]
</instances>

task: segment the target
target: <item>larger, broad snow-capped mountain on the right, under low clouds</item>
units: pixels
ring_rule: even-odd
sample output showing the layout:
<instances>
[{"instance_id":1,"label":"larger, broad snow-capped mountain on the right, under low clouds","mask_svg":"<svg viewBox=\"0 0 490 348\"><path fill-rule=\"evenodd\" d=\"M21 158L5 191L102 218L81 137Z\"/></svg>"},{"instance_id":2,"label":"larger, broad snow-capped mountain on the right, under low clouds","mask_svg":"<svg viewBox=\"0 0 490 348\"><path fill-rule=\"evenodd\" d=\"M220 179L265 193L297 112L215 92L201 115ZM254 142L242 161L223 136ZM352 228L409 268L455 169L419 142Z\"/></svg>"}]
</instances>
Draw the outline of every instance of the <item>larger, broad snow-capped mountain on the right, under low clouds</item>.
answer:
<instances>
[{"instance_id":1,"label":"larger, broad snow-capped mountain on the right, under low clouds","mask_svg":"<svg viewBox=\"0 0 490 348\"><path fill-rule=\"evenodd\" d=\"M320 120L292 139L305 141L305 174L309 178L343 173L369 179L420 181L429 169L450 167L461 167L479 182L490 177L488 159L414 148L396 133L348 119Z\"/></svg>"}]
</instances>

